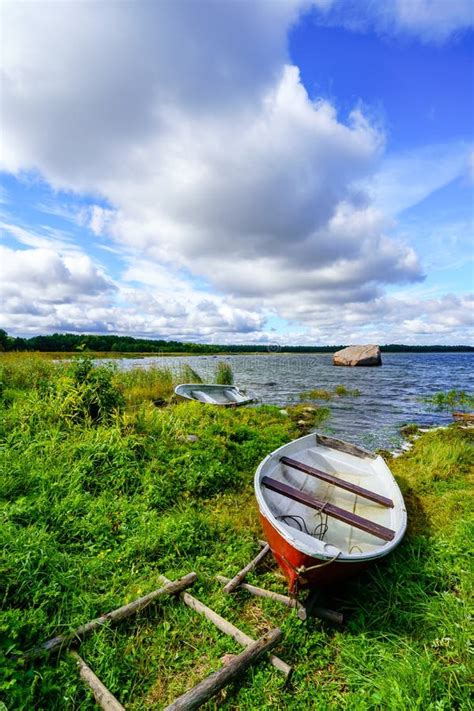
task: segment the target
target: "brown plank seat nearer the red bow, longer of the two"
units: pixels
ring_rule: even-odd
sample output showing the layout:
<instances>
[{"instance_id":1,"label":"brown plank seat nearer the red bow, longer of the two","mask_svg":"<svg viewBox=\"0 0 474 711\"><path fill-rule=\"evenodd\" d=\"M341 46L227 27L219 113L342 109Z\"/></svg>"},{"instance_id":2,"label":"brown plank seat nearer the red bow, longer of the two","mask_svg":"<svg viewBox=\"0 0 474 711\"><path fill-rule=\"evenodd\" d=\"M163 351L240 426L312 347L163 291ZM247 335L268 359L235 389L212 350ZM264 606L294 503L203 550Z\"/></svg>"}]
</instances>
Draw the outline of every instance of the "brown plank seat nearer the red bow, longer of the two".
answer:
<instances>
[{"instance_id":1,"label":"brown plank seat nearer the red bow, longer of the two","mask_svg":"<svg viewBox=\"0 0 474 711\"><path fill-rule=\"evenodd\" d=\"M330 504L327 501L321 501L315 496L306 494L304 491L299 491L299 489L295 489L294 486L289 486L269 476L262 477L262 485L271 491L275 491L277 494L281 494L289 499L293 499L293 501L298 501L300 504L321 511L321 513L325 513L332 518L336 518L338 521L343 521L343 523L359 528L361 531L371 533L373 536L377 536L377 538L381 538L384 541L391 541L395 537L395 531L392 531L391 528L381 526L374 521L370 521L368 518L363 518L350 511L341 509L339 506Z\"/></svg>"}]
</instances>

